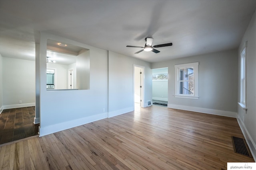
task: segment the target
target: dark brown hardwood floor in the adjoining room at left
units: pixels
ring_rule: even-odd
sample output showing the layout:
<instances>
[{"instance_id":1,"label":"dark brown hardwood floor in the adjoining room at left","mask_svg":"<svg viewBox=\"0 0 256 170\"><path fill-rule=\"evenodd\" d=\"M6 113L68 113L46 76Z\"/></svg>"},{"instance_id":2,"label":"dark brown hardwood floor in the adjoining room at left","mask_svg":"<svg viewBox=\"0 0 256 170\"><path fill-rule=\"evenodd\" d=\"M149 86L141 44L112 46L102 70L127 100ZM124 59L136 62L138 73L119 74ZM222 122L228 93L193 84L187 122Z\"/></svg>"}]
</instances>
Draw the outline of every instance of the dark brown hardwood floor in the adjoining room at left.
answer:
<instances>
[{"instance_id":1,"label":"dark brown hardwood floor in the adjoining room at left","mask_svg":"<svg viewBox=\"0 0 256 170\"><path fill-rule=\"evenodd\" d=\"M38 135L35 107L4 109L0 114L0 145Z\"/></svg>"}]
</instances>

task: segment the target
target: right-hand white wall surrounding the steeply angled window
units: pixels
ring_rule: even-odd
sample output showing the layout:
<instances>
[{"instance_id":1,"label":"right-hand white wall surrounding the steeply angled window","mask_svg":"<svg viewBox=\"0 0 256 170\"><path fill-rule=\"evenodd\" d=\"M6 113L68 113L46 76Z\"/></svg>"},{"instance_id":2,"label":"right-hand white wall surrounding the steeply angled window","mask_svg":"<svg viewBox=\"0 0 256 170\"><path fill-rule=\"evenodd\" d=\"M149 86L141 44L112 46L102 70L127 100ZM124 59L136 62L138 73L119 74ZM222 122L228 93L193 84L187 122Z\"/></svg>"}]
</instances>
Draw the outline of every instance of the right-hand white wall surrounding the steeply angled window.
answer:
<instances>
[{"instance_id":1,"label":"right-hand white wall surrounding the steeply angled window","mask_svg":"<svg viewBox=\"0 0 256 170\"><path fill-rule=\"evenodd\" d=\"M246 106L247 111L238 104L238 122L246 137L247 143L256 160L256 12L248 25L238 49L238 98L240 102L240 51L244 43L247 43L246 50ZM243 120L244 119L244 120Z\"/></svg>"}]
</instances>

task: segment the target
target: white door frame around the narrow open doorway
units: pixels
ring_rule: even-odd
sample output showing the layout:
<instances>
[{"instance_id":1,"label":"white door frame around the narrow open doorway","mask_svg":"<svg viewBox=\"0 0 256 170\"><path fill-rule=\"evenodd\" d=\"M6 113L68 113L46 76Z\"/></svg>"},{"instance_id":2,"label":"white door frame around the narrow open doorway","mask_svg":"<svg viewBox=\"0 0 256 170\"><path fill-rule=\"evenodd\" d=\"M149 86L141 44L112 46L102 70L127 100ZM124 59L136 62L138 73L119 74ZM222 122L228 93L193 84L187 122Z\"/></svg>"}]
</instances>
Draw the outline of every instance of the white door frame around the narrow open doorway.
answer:
<instances>
[{"instance_id":1,"label":"white door frame around the narrow open doorway","mask_svg":"<svg viewBox=\"0 0 256 170\"><path fill-rule=\"evenodd\" d=\"M144 94L145 94L145 67L144 66L140 66L140 65L136 65L136 64L133 64L133 107L134 107L134 89L135 89L135 67L139 67L141 68L141 85L142 85L142 88L141 88L141 94L140 94L140 107L145 107L145 104L144 104Z\"/></svg>"}]
</instances>

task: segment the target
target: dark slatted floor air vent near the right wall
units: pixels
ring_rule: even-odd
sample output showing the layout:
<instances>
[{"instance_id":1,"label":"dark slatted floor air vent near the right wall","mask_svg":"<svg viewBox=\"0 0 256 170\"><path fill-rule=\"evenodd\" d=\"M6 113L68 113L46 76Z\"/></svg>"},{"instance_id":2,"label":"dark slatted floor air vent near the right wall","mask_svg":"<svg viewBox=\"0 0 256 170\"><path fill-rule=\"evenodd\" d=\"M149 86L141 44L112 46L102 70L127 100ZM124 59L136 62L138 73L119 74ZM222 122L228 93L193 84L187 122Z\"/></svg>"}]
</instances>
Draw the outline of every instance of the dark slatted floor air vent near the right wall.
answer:
<instances>
[{"instance_id":1,"label":"dark slatted floor air vent near the right wall","mask_svg":"<svg viewBox=\"0 0 256 170\"><path fill-rule=\"evenodd\" d=\"M235 153L242 154L244 156L248 156L252 158L252 154L248 148L248 145L245 139L240 137L234 137L234 136L232 136L231 138L232 138L232 143L233 143L233 148Z\"/></svg>"}]
</instances>

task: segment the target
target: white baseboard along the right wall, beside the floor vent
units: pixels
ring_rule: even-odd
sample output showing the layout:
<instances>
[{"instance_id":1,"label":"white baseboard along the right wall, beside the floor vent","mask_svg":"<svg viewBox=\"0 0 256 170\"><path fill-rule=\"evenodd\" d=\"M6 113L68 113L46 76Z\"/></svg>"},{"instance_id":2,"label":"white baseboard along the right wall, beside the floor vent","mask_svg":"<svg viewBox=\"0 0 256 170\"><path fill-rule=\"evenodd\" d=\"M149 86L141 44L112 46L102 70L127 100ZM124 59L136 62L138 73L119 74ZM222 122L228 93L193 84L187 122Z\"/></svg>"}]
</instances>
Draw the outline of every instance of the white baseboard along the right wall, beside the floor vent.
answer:
<instances>
[{"instance_id":1,"label":"white baseboard along the right wall, beside the floor vent","mask_svg":"<svg viewBox=\"0 0 256 170\"><path fill-rule=\"evenodd\" d=\"M246 143L252 153L252 157L254 158L254 161L256 161L256 144L254 143L254 141L252 140L252 137L250 136L250 133L248 133L244 122L242 121L241 117L239 115L237 115L237 121L238 124L240 126L240 129L242 130L242 133L244 135L244 138L246 140Z\"/></svg>"}]
</instances>

